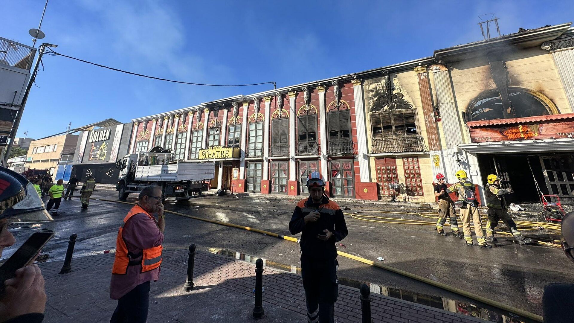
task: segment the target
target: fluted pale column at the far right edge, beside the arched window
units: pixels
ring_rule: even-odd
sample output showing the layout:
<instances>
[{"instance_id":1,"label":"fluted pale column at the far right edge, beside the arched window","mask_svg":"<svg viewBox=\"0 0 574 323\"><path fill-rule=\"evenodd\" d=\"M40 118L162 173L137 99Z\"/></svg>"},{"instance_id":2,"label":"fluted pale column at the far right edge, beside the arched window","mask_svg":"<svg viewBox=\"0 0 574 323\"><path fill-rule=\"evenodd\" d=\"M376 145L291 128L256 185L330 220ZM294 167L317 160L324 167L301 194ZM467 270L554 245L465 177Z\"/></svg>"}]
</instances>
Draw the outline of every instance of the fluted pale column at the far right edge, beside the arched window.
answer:
<instances>
[{"instance_id":1,"label":"fluted pale column at the far right edge, beside the arched window","mask_svg":"<svg viewBox=\"0 0 574 323\"><path fill-rule=\"evenodd\" d=\"M550 51L568 102L574 111L574 36L546 41L541 48Z\"/></svg>"}]
</instances>

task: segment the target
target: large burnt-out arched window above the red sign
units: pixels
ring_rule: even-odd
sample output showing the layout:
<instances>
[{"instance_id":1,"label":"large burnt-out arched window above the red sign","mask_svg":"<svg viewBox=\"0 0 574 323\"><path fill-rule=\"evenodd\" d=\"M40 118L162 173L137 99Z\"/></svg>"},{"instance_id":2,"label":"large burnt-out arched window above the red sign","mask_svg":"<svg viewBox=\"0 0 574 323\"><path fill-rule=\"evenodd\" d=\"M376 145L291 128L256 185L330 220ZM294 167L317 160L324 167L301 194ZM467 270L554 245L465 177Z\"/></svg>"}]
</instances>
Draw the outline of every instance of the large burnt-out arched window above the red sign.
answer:
<instances>
[{"instance_id":1,"label":"large burnt-out arched window above the red sign","mask_svg":"<svg viewBox=\"0 0 574 323\"><path fill-rule=\"evenodd\" d=\"M508 95L514 109L514 116L509 116L511 118L559 113L556 105L540 93L510 86L508 87ZM480 94L468 107L468 121L503 118L505 118L505 114L502 111L502 100L498 90L490 90Z\"/></svg>"}]
</instances>

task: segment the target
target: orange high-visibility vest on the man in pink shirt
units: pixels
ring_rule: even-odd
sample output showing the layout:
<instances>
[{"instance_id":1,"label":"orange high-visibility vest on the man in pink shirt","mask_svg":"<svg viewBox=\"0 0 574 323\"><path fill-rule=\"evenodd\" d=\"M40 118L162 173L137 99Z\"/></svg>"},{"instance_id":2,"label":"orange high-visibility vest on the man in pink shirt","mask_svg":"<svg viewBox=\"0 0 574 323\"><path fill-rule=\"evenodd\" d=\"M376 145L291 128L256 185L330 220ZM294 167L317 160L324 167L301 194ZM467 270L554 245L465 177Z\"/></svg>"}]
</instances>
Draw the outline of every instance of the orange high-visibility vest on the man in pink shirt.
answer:
<instances>
[{"instance_id":1,"label":"orange high-visibility vest on the man in pink shirt","mask_svg":"<svg viewBox=\"0 0 574 323\"><path fill-rule=\"evenodd\" d=\"M148 249L142 250L142 260L141 263L137 262L134 263L133 260L130 260L130 255L128 255L126 241L123 240L122 237L122 230L123 226L126 224L129 218L133 217L135 214L144 213L146 216L152 218L148 212L145 212L139 205L136 205L131 208L130 212L127 213L127 216L123 218L123 223L119 227L118 230L118 238L115 241L115 259L114 259L114 266L112 267L112 274L119 274L125 275L127 273L127 266L134 266L141 264L141 272L154 270L157 267L160 267L161 264L161 250L162 247L159 245L158 247L152 247ZM132 257L139 257L139 255L131 255Z\"/></svg>"}]
</instances>

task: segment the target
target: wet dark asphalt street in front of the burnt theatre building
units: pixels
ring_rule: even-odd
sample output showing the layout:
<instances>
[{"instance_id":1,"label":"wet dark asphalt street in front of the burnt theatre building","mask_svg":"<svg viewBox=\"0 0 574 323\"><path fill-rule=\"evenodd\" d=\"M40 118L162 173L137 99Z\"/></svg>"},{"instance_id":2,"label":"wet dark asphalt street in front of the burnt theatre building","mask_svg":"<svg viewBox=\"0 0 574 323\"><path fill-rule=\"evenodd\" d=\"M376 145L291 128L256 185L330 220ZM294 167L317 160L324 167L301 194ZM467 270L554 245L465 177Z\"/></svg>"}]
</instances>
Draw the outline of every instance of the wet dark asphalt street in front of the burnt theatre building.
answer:
<instances>
[{"instance_id":1,"label":"wet dark asphalt street in front of the burnt theatre building","mask_svg":"<svg viewBox=\"0 0 574 323\"><path fill-rule=\"evenodd\" d=\"M117 199L116 192L106 188L92 196ZM134 201L134 197L130 195L130 201ZM226 195L196 198L186 205L168 201L166 209L289 235L288 222L296 201ZM347 201L340 202L340 205L351 209L390 207ZM78 234L75 257L98 255L104 250L115 248L118 224L130 205L92 201L87 211L80 210L79 206L77 199L65 201L60 207L60 216L54 222L11 230L20 243L32 230L55 230L55 239L44 249L50 255L49 262L61 263L68 237L72 233ZM397 212L401 212L401 209ZM408 218L408 215L404 217ZM574 267L558 248L521 247L501 241L501 247L484 250L467 247L463 240L454 237L439 236L433 232L432 226L381 224L351 217L346 217L346 221L350 233L342 241L344 246L338 247L344 252L370 260L382 256L385 258L383 263L389 266L436 279L529 312L541 314L542 289L546 284L574 282L571 278ZM263 257L268 264L277 263L277 267L287 270L299 264L297 244L259 233L168 214L165 234L164 247L168 249L181 249L185 252L189 244L195 243L199 251L241 252ZM9 256L17 246L6 249L4 256ZM371 290L373 286L379 285L387 294L393 289L401 289L402 295L407 291L414 292L418 293L420 299L421 294L424 294L437 295L444 302L449 299L469 302L468 299L354 260L339 257L339 262L340 280L351 286L368 282L371 283ZM406 299L405 296L403 298ZM488 309L487 306L479 306Z\"/></svg>"}]
</instances>

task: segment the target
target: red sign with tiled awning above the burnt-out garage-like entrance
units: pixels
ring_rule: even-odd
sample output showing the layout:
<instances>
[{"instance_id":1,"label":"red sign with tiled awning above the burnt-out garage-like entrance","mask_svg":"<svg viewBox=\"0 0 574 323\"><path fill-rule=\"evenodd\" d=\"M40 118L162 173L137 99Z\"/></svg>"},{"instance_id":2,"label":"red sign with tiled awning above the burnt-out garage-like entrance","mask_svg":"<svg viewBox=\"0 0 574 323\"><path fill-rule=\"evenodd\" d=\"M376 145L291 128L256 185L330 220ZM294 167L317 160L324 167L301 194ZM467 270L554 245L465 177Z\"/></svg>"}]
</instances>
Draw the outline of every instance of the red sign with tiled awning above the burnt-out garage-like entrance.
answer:
<instances>
[{"instance_id":1,"label":"red sign with tiled awning above the burnt-out garage-like entrance","mask_svg":"<svg viewBox=\"0 0 574 323\"><path fill-rule=\"evenodd\" d=\"M473 143L574 137L574 113L468 121Z\"/></svg>"}]
</instances>

